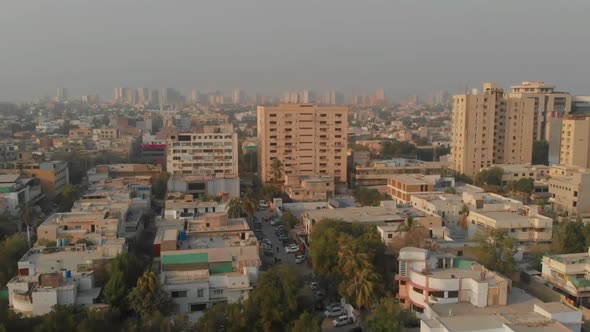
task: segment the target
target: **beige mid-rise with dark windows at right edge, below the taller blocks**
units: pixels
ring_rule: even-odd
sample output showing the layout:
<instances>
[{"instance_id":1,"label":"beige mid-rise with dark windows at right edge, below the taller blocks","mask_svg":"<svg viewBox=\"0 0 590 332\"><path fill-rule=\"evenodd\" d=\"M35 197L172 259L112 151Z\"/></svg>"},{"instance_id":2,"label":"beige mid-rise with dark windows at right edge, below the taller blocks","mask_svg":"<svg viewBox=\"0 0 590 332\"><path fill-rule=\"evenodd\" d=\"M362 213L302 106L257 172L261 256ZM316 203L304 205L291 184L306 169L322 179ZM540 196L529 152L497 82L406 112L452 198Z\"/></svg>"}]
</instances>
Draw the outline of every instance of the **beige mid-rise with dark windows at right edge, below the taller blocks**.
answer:
<instances>
[{"instance_id":1,"label":"beige mid-rise with dark windows at right edge, below the taller blocks","mask_svg":"<svg viewBox=\"0 0 590 332\"><path fill-rule=\"evenodd\" d=\"M565 216L590 217L590 170L554 165L549 174L552 208Z\"/></svg>"}]
</instances>

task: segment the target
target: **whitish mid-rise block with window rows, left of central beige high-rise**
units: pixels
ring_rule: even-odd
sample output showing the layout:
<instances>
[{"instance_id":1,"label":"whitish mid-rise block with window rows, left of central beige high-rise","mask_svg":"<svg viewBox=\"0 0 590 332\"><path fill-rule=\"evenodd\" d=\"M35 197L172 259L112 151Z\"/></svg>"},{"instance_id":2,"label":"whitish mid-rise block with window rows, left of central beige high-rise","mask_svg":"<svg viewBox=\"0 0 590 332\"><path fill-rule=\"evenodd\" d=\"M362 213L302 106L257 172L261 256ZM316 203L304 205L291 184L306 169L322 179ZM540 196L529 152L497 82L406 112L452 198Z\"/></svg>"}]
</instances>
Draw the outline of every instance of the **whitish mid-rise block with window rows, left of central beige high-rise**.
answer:
<instances>
[{"instance_id":1,"label":"whitish mid-rise block with window rows, left of central beige high-rise","mask_svg":"<svg viewBox=\"0 0 590 332\"><path fill-rule=\"evenodd\" d=\"M238 176L238 134L230 124L205 126L198 133L171 134L166 142L167 171L201 178Z\"/></svg>"}]
</instances>

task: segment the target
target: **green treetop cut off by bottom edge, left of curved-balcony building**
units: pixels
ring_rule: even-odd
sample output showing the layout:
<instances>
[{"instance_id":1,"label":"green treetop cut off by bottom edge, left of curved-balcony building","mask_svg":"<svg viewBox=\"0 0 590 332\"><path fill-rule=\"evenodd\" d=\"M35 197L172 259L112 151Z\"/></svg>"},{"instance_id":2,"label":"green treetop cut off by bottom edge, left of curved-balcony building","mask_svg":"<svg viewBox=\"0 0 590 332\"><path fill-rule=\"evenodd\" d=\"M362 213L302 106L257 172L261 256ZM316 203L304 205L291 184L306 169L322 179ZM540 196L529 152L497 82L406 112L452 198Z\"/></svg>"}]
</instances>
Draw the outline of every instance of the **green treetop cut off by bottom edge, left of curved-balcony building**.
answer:
<instances>
[{"instance_id":1,"label":"green treetop cut off by bottom edge, left of curved-balcony building","mask_svg":"<svg viewBox=\"0 0 590 332\"><path fill-rule=\"evenodd\" d=\"M392 298L383 298L367 316L367 329L375 332L400 332L419 326L420 320Z\"/></svg>"}]
</instances>

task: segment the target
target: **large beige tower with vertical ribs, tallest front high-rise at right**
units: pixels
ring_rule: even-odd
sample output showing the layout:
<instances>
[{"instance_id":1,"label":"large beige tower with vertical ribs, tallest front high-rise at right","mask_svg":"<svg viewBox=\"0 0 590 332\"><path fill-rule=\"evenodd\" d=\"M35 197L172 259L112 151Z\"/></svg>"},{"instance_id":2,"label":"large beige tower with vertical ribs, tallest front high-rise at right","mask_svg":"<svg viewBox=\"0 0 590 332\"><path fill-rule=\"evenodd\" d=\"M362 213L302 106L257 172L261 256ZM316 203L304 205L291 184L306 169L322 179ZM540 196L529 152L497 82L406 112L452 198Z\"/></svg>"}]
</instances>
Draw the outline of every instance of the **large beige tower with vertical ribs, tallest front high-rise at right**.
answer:
<instances>
[{"instance_id":1,"label":"large beige tower with vertical ribs, tallest front high-rise at right","mask_svg":"<svg viewBox=\"0 0 590 332\"><path fill-rule=\"evenodd\" d=\"M534 106L533 98L495 83L484 83L482 93L453 96L453 169L474 176L492 164L530 163Z\"/></svg>"}]
</instances>

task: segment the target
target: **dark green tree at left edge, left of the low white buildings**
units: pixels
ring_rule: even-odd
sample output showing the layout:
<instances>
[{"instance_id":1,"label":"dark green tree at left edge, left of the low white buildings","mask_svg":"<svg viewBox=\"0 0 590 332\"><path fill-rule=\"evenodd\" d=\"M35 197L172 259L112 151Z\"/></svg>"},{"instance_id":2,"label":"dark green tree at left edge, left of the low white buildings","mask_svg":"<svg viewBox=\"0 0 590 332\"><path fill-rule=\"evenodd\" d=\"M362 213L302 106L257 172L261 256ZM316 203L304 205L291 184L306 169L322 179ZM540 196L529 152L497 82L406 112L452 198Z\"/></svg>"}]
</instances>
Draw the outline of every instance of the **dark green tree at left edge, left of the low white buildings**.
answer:
<instances>
[{"instance_id":1,"label":"dark green tree at left edge, left of the low white buildings","mask_svg":"<svg viewBox=\"0 0 590 332\"><path fill-rule=\"evenodd\" d=\"M18 274L18 261L29 250L24 234L8 236L0 242L0 287Z\"/></svg>"}]
</instances>

